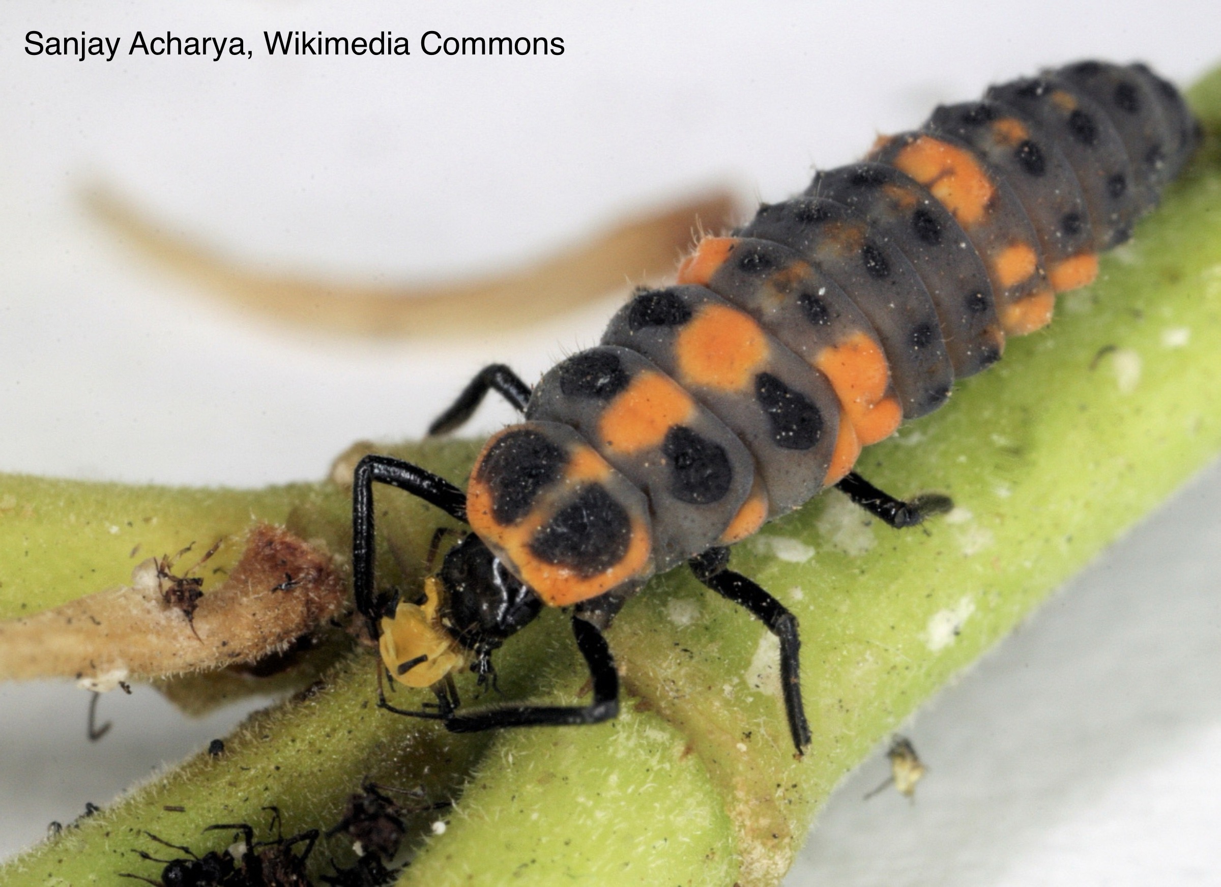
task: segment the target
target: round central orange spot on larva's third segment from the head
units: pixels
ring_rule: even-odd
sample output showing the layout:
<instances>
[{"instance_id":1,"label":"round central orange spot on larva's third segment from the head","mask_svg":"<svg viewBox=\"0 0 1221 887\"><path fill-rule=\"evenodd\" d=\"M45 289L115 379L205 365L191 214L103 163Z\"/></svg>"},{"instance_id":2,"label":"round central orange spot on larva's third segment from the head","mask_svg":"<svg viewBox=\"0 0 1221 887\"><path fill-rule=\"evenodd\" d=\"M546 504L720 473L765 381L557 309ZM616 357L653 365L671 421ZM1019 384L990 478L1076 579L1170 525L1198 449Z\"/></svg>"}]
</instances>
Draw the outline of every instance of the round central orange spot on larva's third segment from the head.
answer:
<instances>
[{"instance_id":1,"label":"round central orange spot on larva's third segment from the head","mask_svg":"<svg viewBox=\"0 0 1221 887\"><path fill-rule=\"evenodd\" d=\"M728 305L705 305L674 340L679 380L720 391L746 389L769 352L758 323Z\"/></svg>"}]
</instances>

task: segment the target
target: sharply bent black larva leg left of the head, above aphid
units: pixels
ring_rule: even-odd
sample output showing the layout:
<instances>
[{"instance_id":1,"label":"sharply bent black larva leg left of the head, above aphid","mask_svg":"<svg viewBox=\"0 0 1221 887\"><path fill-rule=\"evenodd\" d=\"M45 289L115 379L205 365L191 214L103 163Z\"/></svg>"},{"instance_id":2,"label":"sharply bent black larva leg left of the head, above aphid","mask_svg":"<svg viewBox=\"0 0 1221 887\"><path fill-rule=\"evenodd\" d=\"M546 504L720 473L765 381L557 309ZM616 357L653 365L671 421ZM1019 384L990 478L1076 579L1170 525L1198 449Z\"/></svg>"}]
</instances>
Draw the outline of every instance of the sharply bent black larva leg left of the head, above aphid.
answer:
<instances>
[{"instance_id":1,"label":"sharply bent black larva leg left of the head, above aphid","mask_svg":"<svg viewBox=\"0 0 1221 887\"><path fill-rule=\"evenodd\" d=\"M410 462L389 456L365 456L357 464L352 481L352 577L357 611L375 623L388 601L379 600L374 589L374 484L388 484L419 496L457 520L466 522L466 495L444 478Z\"/></svg>"}]
</instances>

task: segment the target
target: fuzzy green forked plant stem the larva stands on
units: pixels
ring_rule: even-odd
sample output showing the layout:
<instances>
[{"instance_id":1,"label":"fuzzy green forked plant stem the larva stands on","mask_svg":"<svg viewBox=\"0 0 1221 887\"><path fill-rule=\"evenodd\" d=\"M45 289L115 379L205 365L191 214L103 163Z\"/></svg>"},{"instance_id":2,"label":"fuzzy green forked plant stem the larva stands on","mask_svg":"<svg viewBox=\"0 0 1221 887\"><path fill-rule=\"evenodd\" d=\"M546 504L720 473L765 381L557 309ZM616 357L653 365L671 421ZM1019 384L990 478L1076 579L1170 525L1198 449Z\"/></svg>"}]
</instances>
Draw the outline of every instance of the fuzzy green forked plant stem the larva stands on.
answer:
<instances>
[{"instance_id":1,"label":"fuzzy green forked plant stem the larva stands on","mask_svg":"<svg viewBox=\"0 0 1221 887\"><path fill-rule=\"evenodd\" d=\"M1221 72L1193 100L1216 130ZM288 828L325 828L343 795L374 776L455 798L443 833L416 823L419 850L400 885L774 885L849 768L1221 451L1219 380L1214 137L1134 242L1105 257L1099 282L1061 299L1049 330L1012 341L947 407L864 454L861 472L878 485L947 492L955 512L899 533L829 494L735 549L734 567L801 621L814 729L802 760L762 627L675 571L632 600L609 634L628 690L614 723L448 737L376 711L371 657L359 654L319 693L256 716L222 759L192 759L0 867L0 881L120 883L115 872L133 870L128 850L145 845L136 830L201 850L225 839L209 844L200 828L261 821L269 803ZM411 452L460 478L473 451ZM232 495L247 507L260 496L284 508L292 500L291 528L343 550L346 498L333 485ZM184 535L204 535L209 519L192 523L187 496L167 491L164 507L181 508ZM32 501L38 513L43 501ZM440 522L396 494L379 492L379 502L388 518L380 563L410 579ZM51 550L63 530L62 520L50 524L33 547ZM22 556L9 542L0 553L2 564ZM94 553L82 544L60 580L101 563ZM111 553L105 563L116 572L125 561ZM578 695L585 677L574 660L564 619L548 613L502 651L505 695ZM167 819L165 804L188 812Z\"/></svg>"}]
</instances>

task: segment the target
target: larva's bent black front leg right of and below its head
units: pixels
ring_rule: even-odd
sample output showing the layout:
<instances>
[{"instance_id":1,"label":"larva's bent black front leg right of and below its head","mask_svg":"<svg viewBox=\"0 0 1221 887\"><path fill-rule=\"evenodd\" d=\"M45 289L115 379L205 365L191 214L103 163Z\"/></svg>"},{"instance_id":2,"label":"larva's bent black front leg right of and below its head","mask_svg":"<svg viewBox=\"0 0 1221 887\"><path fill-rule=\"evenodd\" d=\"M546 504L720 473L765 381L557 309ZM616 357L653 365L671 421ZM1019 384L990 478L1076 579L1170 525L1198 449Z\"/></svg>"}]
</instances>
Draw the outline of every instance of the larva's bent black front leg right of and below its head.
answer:
<instances>
[{"instance_id":1,"label":"larva's bent black front leg right of and below its head","mask_svg":"<svg viewBox=\"0 0 1221 887\"><path fill-rule=\"evenodd\" d=\"M585 657L593 681L593 701L589 705L505 705L444 718L454 733L477 733L498 727L563 727L609 721L619 714L619 672L601 629L573 617L573 635Z\"/></svg>"}]
</instances>

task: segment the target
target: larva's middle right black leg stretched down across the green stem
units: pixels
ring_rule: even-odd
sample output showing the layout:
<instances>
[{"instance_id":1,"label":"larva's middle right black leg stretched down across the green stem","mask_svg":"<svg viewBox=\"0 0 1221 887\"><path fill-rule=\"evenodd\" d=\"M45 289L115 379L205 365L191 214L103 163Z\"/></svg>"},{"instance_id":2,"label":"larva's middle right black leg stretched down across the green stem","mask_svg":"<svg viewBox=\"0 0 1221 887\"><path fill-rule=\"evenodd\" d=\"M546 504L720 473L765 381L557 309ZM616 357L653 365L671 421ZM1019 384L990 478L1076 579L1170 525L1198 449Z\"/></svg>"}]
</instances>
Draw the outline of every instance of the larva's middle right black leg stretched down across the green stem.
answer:
<instances>
[{"instance_id":1,"label":"larva's middle right black leg stretched down across the green stem","mask_svg":"<svg viewBox=\"0 0 1221 887\"><path fill-rule=\"evenodd\" d=\"M695 578L740 607L748 610L780 640L780 687L784 692L784 709L789 717L789 732L797 754L803 754L811 742L806 706L801 701L801 638L797 635L797 617L780 601L769 595L741 573L725 569L729 549L708 549L690 561Z\"/></svg>"}]
</instances>

